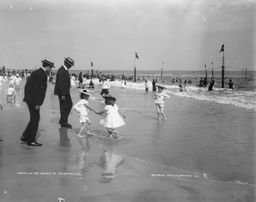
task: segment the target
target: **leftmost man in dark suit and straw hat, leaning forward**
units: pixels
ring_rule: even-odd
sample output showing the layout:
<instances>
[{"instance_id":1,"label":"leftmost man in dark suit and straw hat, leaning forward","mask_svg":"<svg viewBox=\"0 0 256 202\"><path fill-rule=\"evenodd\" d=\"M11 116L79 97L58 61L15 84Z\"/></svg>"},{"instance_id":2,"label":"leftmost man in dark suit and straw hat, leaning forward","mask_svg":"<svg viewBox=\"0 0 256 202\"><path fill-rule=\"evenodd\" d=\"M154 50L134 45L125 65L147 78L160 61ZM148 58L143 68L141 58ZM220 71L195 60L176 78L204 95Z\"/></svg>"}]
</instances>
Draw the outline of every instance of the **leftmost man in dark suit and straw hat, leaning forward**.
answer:
<instances>
[{"instance_id":1,"label":"leftmost man in dark suit and straw hat, leaning forward","mask_svg":"<svg viewBox=\"0 0 256 202\"><path fill-rule=\"evenodd\" d=\"M42 146L42 144L35 141L35 137L40 120L40 106L44 102L46 96L46 73L50 72L52 67L54 67L54 62L51 60L45 59L42 61L42 67L33 71L25 86L25 97L23 101L28 104L30 121L20 140L27 141L28 146Z\"/></svg>"}]
</instances>

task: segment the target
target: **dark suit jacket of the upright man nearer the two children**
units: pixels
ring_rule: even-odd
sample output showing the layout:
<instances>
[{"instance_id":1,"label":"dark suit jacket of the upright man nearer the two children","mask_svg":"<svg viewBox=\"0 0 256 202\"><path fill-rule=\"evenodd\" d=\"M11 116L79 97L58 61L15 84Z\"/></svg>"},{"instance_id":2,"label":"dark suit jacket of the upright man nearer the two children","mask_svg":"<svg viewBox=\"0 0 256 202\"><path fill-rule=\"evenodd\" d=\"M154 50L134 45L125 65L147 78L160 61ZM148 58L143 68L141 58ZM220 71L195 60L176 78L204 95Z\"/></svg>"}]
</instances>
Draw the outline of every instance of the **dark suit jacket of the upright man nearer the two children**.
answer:
<instances>
[{"instance_id":1,"label":"dark suit jacket of the upright man nearer the two children","mask_svg":"<svg viewBox=\"0 0 256 202\"><path fill-rule=\"evenodd\" d=\"M70 76L69 72L62 65L56 74L56 83L54 88L54 94L59 96L65 96L70 91Z\"/></svg>"}]
</instances>

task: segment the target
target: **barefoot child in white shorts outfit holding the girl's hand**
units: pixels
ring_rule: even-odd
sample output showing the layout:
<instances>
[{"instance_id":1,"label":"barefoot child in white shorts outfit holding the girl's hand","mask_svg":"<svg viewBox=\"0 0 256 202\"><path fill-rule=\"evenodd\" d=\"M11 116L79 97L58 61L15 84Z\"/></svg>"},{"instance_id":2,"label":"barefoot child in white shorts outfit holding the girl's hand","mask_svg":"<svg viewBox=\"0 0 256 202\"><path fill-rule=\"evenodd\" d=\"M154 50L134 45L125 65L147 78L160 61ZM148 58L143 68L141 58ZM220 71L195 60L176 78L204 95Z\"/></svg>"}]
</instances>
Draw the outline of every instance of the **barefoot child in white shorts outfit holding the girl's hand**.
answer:
<instances>
[{"instance_id":1,"label":"barefoot child in white shorts outfit holding the girl's hand","mask_svg":"<svg viewBox=\"0 0 256 202\"><path fill-rule=\"evenodd\" d=\"M89 95L93 95L93 91L84 90L84 89L79 89L79 91L81 92L81 94L80 94L81 99L79 100L79 102L77 104L74 105L73 108L78 113L79 121L80 121L80 123L82 123L82 128L80 129L77 137L83 138L85 136L81 135L81 133L86 128L87 123L88 123L87 135L93 135L92 133L89 132L91 123L92 123L88 117L89 109L96 113L97 113L97 111L95 111L93 108L91 108L89 106L89 102L88 102Z\"/></svg>"}]
</instances>

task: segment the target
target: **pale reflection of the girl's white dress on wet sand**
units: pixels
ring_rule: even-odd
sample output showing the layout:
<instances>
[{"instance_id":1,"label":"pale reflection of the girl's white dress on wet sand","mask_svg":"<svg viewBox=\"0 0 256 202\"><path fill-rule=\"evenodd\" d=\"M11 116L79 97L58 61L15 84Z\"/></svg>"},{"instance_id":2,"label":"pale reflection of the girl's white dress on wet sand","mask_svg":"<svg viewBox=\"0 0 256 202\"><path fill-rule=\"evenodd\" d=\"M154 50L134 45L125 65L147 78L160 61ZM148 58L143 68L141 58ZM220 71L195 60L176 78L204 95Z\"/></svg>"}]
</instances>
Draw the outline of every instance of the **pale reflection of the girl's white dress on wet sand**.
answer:
<instances>
[{"instance_id":1,"label":"pale reflection of the girl's white dress on wet sand","mask_svg":"<svg viewBox=\"0 0 256 202\"><path fill-rule=\"evenodd\" d=\"M99 166L104 169L101 174L102 179L100 183L110 183L113 178L115 178L114 173L117 167L122 164L124 160L122 160L121 156L106 152L103 149L101 149L99 160Z\"/></svg>"}]
</instances>

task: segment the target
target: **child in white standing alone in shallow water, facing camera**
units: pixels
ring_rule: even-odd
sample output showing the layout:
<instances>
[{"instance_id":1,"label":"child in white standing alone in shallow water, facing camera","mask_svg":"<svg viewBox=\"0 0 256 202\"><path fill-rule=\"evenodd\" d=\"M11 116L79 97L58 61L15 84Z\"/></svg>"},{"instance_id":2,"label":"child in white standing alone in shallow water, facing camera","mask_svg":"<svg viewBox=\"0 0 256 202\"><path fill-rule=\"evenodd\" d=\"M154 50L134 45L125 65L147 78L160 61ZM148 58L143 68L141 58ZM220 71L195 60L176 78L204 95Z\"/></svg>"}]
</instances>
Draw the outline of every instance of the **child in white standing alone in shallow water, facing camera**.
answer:
<instances>
[{"instance_id":1,"label":"child in white standing alone in shallow water, facing camera","mask_svg":"<svg viewBox=\"0 0 256 202\"><path fill-rule=\"evenodd\" d=\"M155 103L157 107L157 116L158 116L158 119L161 120L161 115L160 115L160 112L161 112L164 120L166 120L165 114L163 113L164 99L167 99L170 96L165 92L163 92L163 89L165 87L159 86L159 85L156 85L156 86L158 87L158 92L156 93L156 95L154 95L154 98L155 98Z\"/></svg>"}]
</instances>

